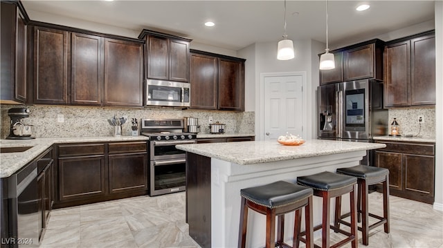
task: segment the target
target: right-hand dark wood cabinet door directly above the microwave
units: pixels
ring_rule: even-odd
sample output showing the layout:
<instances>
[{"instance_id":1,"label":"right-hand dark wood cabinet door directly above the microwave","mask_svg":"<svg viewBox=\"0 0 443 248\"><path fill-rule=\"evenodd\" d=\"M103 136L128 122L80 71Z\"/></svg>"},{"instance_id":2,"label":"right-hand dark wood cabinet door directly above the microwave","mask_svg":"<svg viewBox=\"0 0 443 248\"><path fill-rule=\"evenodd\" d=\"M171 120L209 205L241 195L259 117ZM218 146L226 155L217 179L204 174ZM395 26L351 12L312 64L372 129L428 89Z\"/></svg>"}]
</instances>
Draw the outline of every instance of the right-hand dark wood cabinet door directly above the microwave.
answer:
<instances>
[{"instance_id":1,"label":"right-hand dark wood cabinet door directly above the microwave","mask_svg":"<svg viewBox=\"0 0 443 248\"><path fill-rule=\"evenodd\" d=\"M170 39L169 63L170 80L189 82L189 42Z\"/></svg>"}]
</instances>

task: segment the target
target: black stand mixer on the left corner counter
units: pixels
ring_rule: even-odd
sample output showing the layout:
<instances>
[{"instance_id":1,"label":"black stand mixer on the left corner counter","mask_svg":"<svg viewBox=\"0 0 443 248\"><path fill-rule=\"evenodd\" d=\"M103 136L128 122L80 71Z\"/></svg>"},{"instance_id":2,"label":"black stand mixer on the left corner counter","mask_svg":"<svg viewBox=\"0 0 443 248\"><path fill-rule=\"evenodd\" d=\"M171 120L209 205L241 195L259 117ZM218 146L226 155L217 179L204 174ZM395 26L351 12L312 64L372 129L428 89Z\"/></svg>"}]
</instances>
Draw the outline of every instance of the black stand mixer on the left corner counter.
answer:
<instances>
[{"instance_id":1,"label":"black stand mixer on the left corner counter","mask_svg":"<svg viewBox=\"0 0 443 248\"><path fill-rule=\"evenodd\" d=\"M23 118L29 117L28 108L10 108L8 115L11 118L11 128L7 140L30 140L34 134L34 126L21 123Z\"/></svg>"}]
</instances>

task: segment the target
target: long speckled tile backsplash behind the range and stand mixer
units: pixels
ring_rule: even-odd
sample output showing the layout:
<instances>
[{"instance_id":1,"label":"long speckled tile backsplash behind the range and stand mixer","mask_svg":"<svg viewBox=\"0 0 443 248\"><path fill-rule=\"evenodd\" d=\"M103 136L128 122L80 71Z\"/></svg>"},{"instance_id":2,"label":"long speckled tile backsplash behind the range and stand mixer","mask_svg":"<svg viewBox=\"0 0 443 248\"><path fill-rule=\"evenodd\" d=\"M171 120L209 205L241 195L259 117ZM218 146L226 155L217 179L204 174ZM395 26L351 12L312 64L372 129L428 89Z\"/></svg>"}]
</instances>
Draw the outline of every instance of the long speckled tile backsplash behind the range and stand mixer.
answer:
<instances>
[{"instance_id":1,"label":"long speckled tile backsplash behind the range and stand mixer","mask_svg":"<svg viewBox=\"0 0 443 248\"><path fill-rule=\"evenodd\" d=\"M30 117L24 124L34 125L35 137L99 137L111 136L114 128L108 119L126 116L129 123L123 124L123 135L131 135L131 119L178 119L199 118L200 133L209 133L210 117L214 122L226 124L226 133L254 133L254 112L195 111L176 108L103 108L91 106L22 106L1 105L1 138L10 133L10 108L29 108ZM63 115L64 122L57 122L57 115ZM138 122L140 130L140 122Z\"/></svg>"}]
</instances>

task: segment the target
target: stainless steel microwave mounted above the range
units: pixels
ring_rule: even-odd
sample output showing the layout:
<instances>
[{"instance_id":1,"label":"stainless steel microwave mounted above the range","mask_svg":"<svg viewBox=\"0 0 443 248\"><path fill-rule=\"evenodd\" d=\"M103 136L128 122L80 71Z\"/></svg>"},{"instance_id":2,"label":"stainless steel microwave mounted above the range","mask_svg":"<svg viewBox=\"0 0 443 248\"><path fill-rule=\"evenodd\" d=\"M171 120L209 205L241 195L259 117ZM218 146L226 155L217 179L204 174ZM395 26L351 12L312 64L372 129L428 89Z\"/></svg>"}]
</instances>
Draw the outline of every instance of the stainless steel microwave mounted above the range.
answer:
<instances>
[{"instance_id":1,"label":"stainless steel microwave mounted above the range","mask_svg":"<svg viewBox=\"0 0 443 248\"><path fill-rule=\"evenodd\" d=\"M190 84L147 79L146 104L148 106L190 106Z\"/></svg>"}]
</instances>

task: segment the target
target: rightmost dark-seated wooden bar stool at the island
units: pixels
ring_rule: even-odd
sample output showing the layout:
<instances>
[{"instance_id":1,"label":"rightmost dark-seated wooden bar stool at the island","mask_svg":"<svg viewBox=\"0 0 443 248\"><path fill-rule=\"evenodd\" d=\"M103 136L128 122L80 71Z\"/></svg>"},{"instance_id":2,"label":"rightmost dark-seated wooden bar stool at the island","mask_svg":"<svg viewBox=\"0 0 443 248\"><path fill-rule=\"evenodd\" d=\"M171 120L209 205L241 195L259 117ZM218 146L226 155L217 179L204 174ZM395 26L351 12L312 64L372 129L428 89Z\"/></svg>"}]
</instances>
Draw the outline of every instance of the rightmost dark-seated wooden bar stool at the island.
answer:
<instances>
[{"instance_id":1,"label":"rightmost dark-seated wooden bar stool at the island","mask_svg":"<svg viewBox=\"0 0 443 248\"><path fill-rule=\"evenodd\" d=\"M350 168L340 168L337 169L336 172L343 175L352 175L357 178L359 187L357 212L358 221L361 222L359 231L361 231L363 236L363 245L369 244L369 231L375 227L384 225L385 233L389 233L389 170L374 166L357 165ZM383 217L369 213L368 209L368 186L380 182L383 182ZM343 218L349 216L349 213L341 215L341 199L336 201L335 211L336 218L334 224L336 227L339 227L340 223L350 225L349 222L343 220ZM363 220L361 220L361 216L363 216ZM379 222L369 225L369 216L378 219Z\"/></svg>"}]
</instances>

